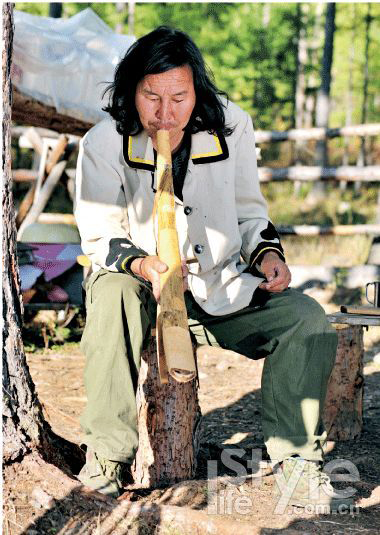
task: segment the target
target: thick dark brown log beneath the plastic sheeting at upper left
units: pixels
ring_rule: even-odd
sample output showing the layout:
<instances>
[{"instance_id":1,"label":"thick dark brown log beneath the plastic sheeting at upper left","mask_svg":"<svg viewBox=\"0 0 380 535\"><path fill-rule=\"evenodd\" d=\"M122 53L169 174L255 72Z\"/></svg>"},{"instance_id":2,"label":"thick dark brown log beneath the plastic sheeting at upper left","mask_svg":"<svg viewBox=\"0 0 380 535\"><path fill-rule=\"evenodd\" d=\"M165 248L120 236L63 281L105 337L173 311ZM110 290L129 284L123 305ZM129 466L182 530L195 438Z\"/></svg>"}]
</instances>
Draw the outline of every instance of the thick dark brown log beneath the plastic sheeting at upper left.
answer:
<instances>
[{"instance_id":1,"label":"thick dark brown log beneath the plastic sheeting at upper left","mask_svg":"<svg viewBox=\"0 0 380 535\"><path fill-rule=\"evenodd\" d=\"M92 123L58 113L53 106L21 93L13 88L12 119L23 124L48 128L62 134L83 136Z\"/></svg>"}]
</instances>

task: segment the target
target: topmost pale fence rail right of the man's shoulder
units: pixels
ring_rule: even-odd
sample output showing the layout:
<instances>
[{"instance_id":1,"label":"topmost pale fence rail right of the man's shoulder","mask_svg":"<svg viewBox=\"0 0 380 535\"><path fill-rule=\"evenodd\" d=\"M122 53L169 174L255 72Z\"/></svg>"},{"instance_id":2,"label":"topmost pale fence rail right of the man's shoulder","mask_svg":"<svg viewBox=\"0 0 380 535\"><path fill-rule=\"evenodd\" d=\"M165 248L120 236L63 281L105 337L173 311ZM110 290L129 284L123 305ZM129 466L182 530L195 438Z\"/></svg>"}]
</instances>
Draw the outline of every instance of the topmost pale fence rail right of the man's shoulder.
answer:
<instances>
[{"instance_id":1,"label":"topmost pale fence rail right of the man's shoulder","mask_svg":"<svg viewBox=\"0 0 380 535\"><path fill-rule=\"evenodd\" d=\"M268 143L270 141L312 141L339 136L378 136L380 123L359 124L342 126L341 128L298 128L286 132L257 130L255 132L256 143Z\"/></svg>"}]
</instances>

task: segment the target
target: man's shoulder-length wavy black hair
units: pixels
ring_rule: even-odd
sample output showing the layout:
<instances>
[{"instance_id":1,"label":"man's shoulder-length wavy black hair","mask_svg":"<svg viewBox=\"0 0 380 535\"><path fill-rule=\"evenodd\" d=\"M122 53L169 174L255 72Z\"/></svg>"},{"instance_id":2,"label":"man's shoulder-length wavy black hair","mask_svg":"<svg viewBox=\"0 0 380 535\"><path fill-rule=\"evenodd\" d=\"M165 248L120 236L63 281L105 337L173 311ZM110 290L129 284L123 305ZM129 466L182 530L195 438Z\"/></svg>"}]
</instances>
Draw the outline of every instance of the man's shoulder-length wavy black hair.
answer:
<instances>
[{"instance_id":1,"label":"man's shoulder-length wavy black hair","mask_svg":"<svg viewBox=\"0 0 380 535\"><path fill-rule=\"evenodd\" d=\"M115 119L119 134L135 135L143 129L135 106L139 81L148 74L160 74L184 65L191 67L196 95L185 130L221 132L226 136L233 132L233 128L225 124L225 104L219 98L224 96L228 100L228 96L215 86L198 47L187 34L159 26L128 49L116 67L113 83L104 92L104 95L109 92L110 96L103 110Z\"/></svg>"}]
</instances>

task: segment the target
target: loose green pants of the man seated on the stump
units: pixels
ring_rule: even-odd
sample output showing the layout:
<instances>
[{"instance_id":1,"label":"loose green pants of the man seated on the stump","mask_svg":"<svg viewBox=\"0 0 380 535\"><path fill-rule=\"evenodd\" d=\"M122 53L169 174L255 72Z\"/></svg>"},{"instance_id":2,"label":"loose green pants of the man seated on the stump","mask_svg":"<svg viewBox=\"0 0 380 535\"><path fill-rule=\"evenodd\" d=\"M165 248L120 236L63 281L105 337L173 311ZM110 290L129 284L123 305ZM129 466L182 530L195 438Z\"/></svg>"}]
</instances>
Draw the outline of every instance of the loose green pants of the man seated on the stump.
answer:
<instances>
[{"instance_id":1,"label":"loose green pants of the man seated on the stump","mask_svg":"<svg viewBox=\"0 0 380 535\"><path fill-rule=\"evenodd\" d=\"M186 304L199 344L265 357L262 426L271 459L298 454L321 460L321 412L337 346L322 307L293 289L259 292L256 305L227 316L206 314L189 292ZM131 462L138 446L140 355L154 321L154 299L134 277L101 270L87 283L86 308L83 442L102 457Z\"/></svg>"}]
</instances>

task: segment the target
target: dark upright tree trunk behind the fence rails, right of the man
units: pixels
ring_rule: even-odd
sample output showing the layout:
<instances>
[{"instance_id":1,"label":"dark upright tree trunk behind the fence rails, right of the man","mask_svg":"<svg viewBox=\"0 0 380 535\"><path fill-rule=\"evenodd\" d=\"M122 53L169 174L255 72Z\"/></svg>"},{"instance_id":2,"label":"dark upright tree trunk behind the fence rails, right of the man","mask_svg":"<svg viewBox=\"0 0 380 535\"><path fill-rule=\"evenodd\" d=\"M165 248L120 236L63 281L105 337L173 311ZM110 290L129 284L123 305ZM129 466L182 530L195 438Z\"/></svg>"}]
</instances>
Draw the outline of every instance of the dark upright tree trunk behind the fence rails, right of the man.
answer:
<instances>
[{"instance_id":1,"label":"dark upright tree trunk behind the fence rails, right of the man","mask_svg":"<svg viewBox=\"0 0 380 535\"><path fill-rule=\"evenodd\" d=\"M330 108L330 85L331 85L331 66L333 59L333 45L335 32L335 2L327 4L326 22L325 22L325 44L323 48L322 69L321 69L321 86L317 95L316 127L328 128L329 108ZM327 143L325 140L317 141L315 147L315 165L327 167ZM323 197L325 187L320 182L315 184L312 191L312 197L318 199Z\"/></svg>"}]
</instances>

